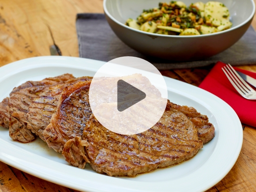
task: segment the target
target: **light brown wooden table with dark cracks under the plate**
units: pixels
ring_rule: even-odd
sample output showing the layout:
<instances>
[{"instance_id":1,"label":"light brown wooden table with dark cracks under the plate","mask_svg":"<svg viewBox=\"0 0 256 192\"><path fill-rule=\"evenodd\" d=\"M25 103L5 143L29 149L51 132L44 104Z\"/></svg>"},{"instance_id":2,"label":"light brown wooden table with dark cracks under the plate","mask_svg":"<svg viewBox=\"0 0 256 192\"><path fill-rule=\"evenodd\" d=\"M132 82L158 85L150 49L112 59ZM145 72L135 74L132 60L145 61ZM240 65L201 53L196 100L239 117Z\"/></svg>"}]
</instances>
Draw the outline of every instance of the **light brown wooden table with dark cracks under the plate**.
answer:
<instances>
[{"instance_id":1,"label":"light brown wooden table with dark cracks under the plate","mask_svg":"<svg viewBox=\"0 0 256 192\"><path fill-rule=\"evenodd\" d=\"M256 1L256 0L255 0ZM78 57L77 13L102 13L103 0L1 0L0 66L23 58L50 55L56 44L62 55ZM252 25L256 29L256 19ZM162 74L198 86L212 66L175 69ZM240 66L256 72L256 65ZM207 192L256 191L256 129L243 125L244 142L229 174ZM223 157L224 158L224 157ZM211 179L211 178L209 178ZM0 162L0 192L73 192Z\"/></svg>"}]
</instances>

